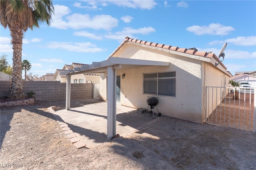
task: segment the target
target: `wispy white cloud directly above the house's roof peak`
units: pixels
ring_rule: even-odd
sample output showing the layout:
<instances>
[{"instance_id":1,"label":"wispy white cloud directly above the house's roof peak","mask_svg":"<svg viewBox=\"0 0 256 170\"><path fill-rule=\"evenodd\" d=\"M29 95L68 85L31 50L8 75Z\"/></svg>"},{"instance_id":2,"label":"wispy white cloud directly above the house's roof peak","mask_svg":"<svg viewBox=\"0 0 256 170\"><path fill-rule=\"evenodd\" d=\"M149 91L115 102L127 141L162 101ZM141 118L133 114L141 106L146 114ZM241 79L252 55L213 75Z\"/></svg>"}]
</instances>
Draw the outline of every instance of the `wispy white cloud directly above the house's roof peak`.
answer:
<instances>
[{"instance_id":1,"label":"wispy white cloud directly above the house's roof peak","mask_svg":"<svg viewBox=\"0 0 256 170\"><path fill-rule=\"evenodd\" d=\"M136 38L134 36L134 34L142 34L142 35L145 35L145 34L150 34L152 32L155 32L156 30L152 27L144 27L144 28L138 28L138 29L133 29L133 28L124 28L122 31L120 32L115 32L114 34L109 34L109 35L106 35L105 37L108 38L108 39L114 39L114 40L119 40L119 41L122 41L124 40L124 38L126 36L130 37L130 38Z\"/></svg>"}]
</instances>

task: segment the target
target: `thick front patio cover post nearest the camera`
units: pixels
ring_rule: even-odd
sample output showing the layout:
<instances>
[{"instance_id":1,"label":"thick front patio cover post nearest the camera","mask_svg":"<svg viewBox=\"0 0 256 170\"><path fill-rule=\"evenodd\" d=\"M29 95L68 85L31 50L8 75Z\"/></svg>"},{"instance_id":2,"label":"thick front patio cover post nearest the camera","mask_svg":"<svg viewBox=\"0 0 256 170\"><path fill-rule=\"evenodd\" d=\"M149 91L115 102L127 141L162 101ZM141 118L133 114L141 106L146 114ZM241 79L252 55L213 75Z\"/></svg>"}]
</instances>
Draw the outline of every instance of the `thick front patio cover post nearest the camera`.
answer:
<instances>
[{"instance_id":1,"label":"thick front patio cover post nearest the camera","mask_svg":"<svg viewBox=\"0 0 256 170\"><path fill-rule=\"evenodd\" d=\"M116 135L116 70L108 66L108 114L107 138Z\"/></svg>"}]
</instances>

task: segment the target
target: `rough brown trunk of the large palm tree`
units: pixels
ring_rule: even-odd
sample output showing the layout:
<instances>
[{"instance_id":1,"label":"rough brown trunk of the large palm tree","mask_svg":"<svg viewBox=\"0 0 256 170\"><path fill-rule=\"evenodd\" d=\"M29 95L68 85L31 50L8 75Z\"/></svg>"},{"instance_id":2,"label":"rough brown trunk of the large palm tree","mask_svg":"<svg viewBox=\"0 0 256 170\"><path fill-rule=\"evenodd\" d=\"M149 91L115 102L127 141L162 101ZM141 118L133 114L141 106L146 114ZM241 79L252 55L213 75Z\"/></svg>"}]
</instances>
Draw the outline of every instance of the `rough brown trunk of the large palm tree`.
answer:
<instances>
[{"instance_id":1,"label":"rough brown trunk of the large palm tree","mask_svg":"<svg viewBox=\"0 0 256 170\"><path fill-rule=\"evenodd\" d=\"M14 26L10 28L13 45L13 56L12 56L12 83L10 85L9 98L12 99L24 99L25 94L23 93L22 85L22 39L23 31L20 23L15 22Z\"/></svg>"}]
</instances>

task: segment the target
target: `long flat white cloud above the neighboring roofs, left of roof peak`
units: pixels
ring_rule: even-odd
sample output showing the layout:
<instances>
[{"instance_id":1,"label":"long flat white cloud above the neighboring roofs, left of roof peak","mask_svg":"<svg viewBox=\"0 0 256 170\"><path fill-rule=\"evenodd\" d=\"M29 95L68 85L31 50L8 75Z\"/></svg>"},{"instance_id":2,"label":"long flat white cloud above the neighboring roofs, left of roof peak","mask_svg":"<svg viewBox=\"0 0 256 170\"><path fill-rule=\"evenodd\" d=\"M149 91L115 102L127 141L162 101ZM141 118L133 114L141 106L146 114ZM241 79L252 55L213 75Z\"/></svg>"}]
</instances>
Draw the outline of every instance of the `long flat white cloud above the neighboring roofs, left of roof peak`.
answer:
<instances>
[{"instance_id":1,"label":"long flat white cloud above the neighboring roofs, left of roof peak","mask_svg":"<svg viewBox=\"0 0 256 170\"><path fill-rule=\"evenodd\" d=\"M83 43L72 43L72 42L51 42L47 45L48 48L53 49L65 49L68 51L76 51L76 52L85 52L85 53L95 53L104 51L102 48L96 47L96 45L83 42Z\"/></svg>"}]
</instances>

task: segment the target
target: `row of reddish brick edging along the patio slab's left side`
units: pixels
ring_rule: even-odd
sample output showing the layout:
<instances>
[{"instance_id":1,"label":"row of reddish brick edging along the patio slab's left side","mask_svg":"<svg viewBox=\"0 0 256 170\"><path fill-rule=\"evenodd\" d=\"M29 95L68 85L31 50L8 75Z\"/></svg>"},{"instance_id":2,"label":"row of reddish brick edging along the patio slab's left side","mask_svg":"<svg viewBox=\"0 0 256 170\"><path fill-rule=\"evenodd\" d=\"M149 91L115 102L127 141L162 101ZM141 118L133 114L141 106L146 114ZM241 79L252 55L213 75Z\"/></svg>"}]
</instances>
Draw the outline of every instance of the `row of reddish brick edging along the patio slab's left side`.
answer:
<instances>
[{"instance_id":1,"label":"row of reddish brick edging along the patio slab's left side","mask_svg":"<svg viewBox=\"0 0 256 170\"><path fill-rule=\"evenodd\" d=\"M85 148L86 144L84 142L82 142L80 140L80 138L78 136L76 136L76 133L74 133L69 127L68 124L66 124L61 117L55 112L57 108L56 106L51 106L47 108L48 111L50 113L52 113L54 119L58 122L58 124L60 125L60 127L62 128L63 132L66 134L66 136L68 137L68 139L70 140L70 142L72 144L74 144L74 146L76 146L76 148L80 149L80 148Z\"/></svg>"}]
</instances>

